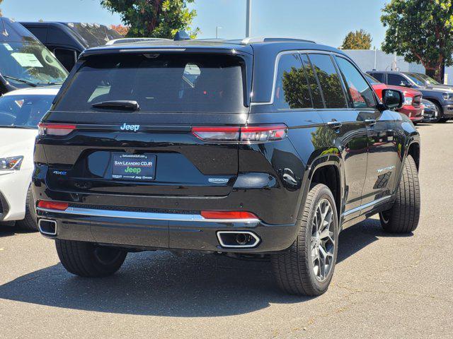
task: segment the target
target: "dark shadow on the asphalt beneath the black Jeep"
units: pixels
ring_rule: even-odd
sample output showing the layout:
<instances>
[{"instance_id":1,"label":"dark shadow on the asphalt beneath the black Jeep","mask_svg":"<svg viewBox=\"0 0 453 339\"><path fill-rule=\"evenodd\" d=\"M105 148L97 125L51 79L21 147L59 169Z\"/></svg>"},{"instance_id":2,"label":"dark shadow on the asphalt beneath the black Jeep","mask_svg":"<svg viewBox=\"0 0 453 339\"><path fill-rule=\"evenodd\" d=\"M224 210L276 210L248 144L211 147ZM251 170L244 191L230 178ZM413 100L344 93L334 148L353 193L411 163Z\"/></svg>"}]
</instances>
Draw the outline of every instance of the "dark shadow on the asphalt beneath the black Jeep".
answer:
<instances>
[{"instance_id":1,"label":"dark shadow on the asphalt beneath the black Jeep","mask_svg":"<svg viewBox=\"0 0 453 339\"><path fill-rule=\"evenodd\" d=\"M379 221L367 220L340 235L338 262L376 242ZM270 303L305 302L285 295L267 261L166 251L129 254L109 278L71 275L57 264L0 286L0 298L67 309L153 316L229 316L265 309Z\"/></svg>"}]
</instances>

